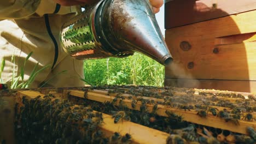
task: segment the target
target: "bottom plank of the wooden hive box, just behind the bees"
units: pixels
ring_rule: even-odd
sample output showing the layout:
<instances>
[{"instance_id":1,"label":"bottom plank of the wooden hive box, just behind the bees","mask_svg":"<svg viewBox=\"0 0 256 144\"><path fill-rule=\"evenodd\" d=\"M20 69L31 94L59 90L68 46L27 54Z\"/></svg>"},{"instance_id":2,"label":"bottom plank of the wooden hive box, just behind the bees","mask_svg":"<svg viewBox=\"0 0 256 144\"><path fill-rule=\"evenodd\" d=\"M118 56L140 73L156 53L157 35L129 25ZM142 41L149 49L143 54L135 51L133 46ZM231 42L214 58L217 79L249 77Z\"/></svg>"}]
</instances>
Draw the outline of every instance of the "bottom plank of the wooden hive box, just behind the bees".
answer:
<instances>
[{"instance_id":1,"label":"bottom plank of the wooden hive box, just behind the bees","mask_svg":"<svg viewBox=\"0 0 256 144\"><path fill-rule=\"evenodd\" d=\"M165 86L218 89L234 92L256 92L256 81L165 79Z\"/></svg>"}]
</instances>

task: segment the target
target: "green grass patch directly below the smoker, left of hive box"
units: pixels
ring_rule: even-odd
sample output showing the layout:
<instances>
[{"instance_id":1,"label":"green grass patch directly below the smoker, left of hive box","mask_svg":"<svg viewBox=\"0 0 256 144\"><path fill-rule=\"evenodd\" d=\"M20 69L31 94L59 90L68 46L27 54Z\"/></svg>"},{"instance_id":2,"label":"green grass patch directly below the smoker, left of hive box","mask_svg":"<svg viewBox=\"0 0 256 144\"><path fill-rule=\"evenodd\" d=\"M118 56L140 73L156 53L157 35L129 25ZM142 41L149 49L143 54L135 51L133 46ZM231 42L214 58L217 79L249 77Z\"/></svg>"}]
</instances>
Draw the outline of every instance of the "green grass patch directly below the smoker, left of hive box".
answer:
<instances>
[{"instance_id":1,"label":"green grass patch directly below the smoker, left of hive box","mask_svg":"<svg viewBox=\"0 0 256 144\"><path fill-rule=\"evenodd\" d=\"M84 62L89 85L164 86L164 66L139 53L126 58L105 58Z\"/></svg>"}]
</instances>

